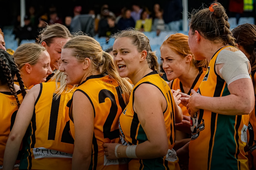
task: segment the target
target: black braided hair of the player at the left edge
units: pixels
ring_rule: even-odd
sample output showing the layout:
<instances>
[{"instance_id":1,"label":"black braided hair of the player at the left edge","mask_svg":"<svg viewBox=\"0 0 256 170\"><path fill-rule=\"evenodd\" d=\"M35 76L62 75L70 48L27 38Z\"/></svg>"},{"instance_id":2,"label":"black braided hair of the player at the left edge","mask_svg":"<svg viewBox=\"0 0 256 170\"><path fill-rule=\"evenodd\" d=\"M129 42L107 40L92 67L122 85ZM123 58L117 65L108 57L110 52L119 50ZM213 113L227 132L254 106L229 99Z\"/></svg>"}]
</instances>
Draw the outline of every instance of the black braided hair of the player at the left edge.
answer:
<instances>
[{"instance_id":1,"label":"black braided hair of the player at the left edge","mask_svg":"<svg viewBox=\"0 0 256 170\"><path fill-rule=\"evenodd\" d=\"M26 95L26 90L25 90L25 86L23 84L23 81L20 77L20 73L19 73L19 69L17 67L17 65L15 64L15 61L12 57L12 55L10 55L9 53L7 53L5 50L0 49L0 82L2 85L7 85L8 88L10 89L12 95L14 95L18 107L20 107L20 101L18 99L16 90L14 88L14 77L16 75L17 80L19 82L20 85L20 90L22 93L23 98Z\"/></svg>"}]
</instances>

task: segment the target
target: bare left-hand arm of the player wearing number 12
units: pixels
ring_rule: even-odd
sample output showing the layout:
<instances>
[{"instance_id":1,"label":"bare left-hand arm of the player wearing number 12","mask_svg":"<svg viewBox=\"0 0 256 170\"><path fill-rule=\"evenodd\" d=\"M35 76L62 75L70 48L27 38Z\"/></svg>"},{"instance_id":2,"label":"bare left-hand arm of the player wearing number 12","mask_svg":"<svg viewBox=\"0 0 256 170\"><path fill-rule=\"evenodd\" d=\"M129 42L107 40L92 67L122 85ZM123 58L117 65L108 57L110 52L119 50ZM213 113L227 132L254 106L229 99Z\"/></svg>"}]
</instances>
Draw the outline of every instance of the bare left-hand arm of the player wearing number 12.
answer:
<instances>
[{"instance_id":1,"label":"bare left-hand arm of the player wearing number 12","mask_svg":"<svg viewBox=\"0 0 256 170\"><path fill-rule=\"evenodd\" d=\"M8 137L4 151L4 170L12 170L15 164L21 141L26 133L26 130L31 122L34 104L40 91L40 85L35 85L26 94L23 102L18 109L14 125Z\"/></svg>"}]
</instances>

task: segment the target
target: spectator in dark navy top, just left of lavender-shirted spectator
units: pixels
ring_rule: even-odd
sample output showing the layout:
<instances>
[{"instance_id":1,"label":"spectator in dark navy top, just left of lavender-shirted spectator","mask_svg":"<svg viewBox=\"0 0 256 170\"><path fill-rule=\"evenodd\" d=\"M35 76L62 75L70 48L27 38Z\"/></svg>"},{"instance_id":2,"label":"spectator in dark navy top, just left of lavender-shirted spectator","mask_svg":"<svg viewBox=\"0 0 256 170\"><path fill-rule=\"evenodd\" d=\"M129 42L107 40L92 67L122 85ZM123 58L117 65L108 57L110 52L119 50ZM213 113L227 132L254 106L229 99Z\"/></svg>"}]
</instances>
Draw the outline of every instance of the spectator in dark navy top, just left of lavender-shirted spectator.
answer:
<instances>
[{"instance_id":1,"label":"spectator in dark navy top, just left of lavender-shirted spectator","mask_svg":"<svg viewBox=\"0 0 256 170\"><path fill-rule=\"evenodd\" d=\"M124 15L119 19L117 23L118 30L125 30L129 27L135 27L135 20L131 17L131 10L126 9Z\"/></svg>"}]
</instances>

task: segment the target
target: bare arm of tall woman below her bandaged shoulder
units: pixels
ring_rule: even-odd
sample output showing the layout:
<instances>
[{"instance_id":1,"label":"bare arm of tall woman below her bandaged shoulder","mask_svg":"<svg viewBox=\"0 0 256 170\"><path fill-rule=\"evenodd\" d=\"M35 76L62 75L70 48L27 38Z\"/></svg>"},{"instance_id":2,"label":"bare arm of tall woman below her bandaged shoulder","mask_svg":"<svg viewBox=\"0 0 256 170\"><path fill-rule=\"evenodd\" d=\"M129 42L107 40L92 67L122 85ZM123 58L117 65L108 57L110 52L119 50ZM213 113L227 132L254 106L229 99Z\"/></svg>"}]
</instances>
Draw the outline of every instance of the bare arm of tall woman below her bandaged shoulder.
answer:
<instances>
[{"instance_id":1,"label":"bare arm of tall woman below her bandaged shoulder","mask_svg":"<svg viewBox=\"0 0 256 170\"><path fill-rule=\"evenodd\" d=\"M199 109L209 110L218 114L243 115L249 114L254 107L254 88L252 80L241 78L228 85L230 95L222 97L206 97L191 90L187 109L194 114Z\"/></svg>"}]
</instances>

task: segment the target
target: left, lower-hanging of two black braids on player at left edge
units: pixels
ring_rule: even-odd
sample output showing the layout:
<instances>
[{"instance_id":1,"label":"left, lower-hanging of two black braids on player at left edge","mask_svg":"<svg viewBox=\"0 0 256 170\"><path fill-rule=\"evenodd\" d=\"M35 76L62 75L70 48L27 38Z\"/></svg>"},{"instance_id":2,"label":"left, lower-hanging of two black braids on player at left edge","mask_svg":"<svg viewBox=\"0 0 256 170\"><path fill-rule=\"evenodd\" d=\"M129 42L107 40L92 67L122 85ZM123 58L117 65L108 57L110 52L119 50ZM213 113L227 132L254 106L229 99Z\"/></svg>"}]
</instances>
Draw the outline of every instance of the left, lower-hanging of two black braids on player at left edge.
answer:
<instances>
[{"instance_id":1,"label":"left, lower-hanging of two black braids on player at left edge","mask_svg":"<svg viewBox=\"0 0 256 170\"><path fill-rule=\"evenodd\" d=\"M15 97L18 107L20 107L20 101L18 99L18 96L17 96L15 88L14 88L14 82L13 82L12 74L8 67L8 64L6 61L4 61L4 59L0 58L0 65L1 65L1 71L4 73L2 76L5 77L5 80L6 80L6 83L9 87L9 89L11 90L12 95L14 95L14 97Z\"/></svg>"}]
</instances>

